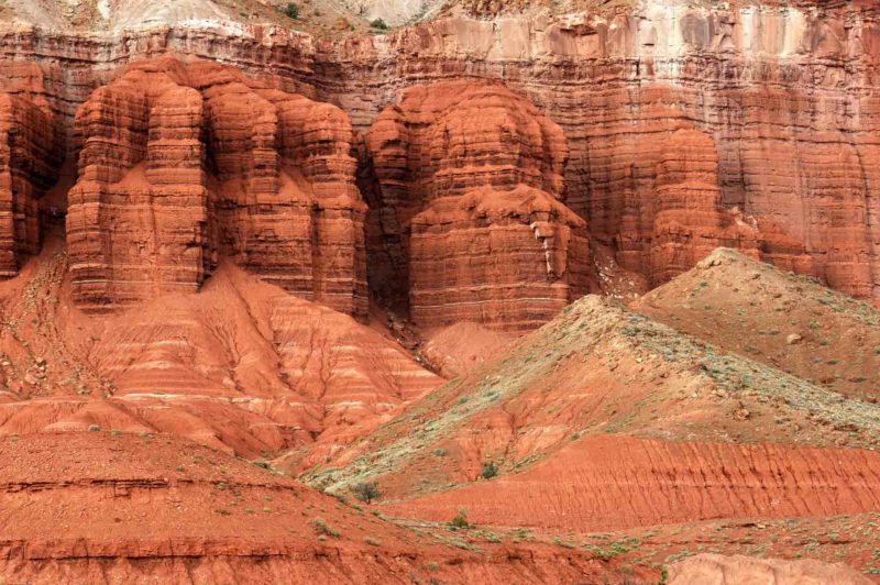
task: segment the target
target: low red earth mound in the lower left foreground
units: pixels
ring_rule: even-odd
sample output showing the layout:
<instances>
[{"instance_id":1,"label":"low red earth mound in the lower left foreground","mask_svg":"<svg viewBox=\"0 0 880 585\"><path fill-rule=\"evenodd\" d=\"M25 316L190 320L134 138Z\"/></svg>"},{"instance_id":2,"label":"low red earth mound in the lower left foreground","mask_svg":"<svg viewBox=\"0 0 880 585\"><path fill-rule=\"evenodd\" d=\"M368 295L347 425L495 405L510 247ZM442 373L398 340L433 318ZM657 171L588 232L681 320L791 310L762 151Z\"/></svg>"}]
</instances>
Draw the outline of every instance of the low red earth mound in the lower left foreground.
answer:
<instances>
[{"instance_id":1,"label":"low red earth mound in the lower left foreground","mask_svg":"<svg viewBox=\"0 0 880 585\"><path fill-rule=\"evenodd\" d=\"M0 578L12 583L615 580L584 553L444 545L172 435L0 441Z\"/></svg>"}]
</instances>

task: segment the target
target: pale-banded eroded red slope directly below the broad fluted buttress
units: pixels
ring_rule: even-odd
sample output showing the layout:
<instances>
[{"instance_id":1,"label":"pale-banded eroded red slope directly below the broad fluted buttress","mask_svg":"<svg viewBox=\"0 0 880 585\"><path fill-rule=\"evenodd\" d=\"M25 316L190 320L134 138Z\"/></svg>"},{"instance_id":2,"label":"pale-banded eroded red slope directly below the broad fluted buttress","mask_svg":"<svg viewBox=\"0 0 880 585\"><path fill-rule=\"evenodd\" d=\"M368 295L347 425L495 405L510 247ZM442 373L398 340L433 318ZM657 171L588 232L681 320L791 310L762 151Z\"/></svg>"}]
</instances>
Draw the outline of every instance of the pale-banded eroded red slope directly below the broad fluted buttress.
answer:
<instances>
[{"instance_id":1,"label":"pale-banded eroded red slope directly below the broad fluted buttress","mask_svg":"<svg viewBox=\"0 0 880 585\"><path fill-rule=\"evenodd\" d=\"M0 434L164 431L248 457L345 442L442 380L374 329L224 263L199 294L74 306L52 246L0 285Z\"/></svg>"}]
</instances>

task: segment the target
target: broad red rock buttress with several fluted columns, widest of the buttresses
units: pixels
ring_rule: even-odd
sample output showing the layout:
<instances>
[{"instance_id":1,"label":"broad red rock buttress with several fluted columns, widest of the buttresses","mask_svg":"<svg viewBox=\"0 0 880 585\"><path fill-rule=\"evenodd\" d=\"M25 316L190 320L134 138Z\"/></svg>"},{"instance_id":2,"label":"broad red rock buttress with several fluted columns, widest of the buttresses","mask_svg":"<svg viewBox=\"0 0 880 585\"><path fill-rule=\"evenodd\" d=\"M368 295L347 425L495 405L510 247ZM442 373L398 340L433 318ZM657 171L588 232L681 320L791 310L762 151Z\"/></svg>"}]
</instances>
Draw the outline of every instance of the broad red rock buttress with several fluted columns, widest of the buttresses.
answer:
<instances>
[{"instance_id":1,"label":"broad red rock buttress with several fluted columns, widest of the buttresses","mask_svg":"<svg viewBox=\"0 0 880 585\"><path fill-rule=\"evenodd\" d=\"M67 240L81 307L196 290L224 254L365 316L365 207L338 108L160 59L95 91L75 128Z\"/></svg>"}]
</instances>

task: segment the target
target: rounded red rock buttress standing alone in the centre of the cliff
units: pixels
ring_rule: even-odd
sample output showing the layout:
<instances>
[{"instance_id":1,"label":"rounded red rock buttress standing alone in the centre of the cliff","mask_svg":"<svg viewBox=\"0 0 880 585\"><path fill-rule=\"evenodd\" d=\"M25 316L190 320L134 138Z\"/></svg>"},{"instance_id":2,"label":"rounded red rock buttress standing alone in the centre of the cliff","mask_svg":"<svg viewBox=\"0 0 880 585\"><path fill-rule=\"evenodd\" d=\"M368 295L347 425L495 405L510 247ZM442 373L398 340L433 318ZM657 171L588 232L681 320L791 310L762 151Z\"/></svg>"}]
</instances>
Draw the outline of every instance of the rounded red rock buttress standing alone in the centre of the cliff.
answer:
<instances>
[{"instance_id":1,"label":"rounded red rock buttress standing alone in the centre of the cliff","mask_svg":"<svg viewBox=\"0 0 880 585\"><path fill-rule=\"evenodd\" d=\"M561 201L562 130L497 84L407 91L366 135L372 282L413 319L530 329L588 288L585 222ZM372 261L373 258L371 258Z\"/></svg>"}]
</instances>

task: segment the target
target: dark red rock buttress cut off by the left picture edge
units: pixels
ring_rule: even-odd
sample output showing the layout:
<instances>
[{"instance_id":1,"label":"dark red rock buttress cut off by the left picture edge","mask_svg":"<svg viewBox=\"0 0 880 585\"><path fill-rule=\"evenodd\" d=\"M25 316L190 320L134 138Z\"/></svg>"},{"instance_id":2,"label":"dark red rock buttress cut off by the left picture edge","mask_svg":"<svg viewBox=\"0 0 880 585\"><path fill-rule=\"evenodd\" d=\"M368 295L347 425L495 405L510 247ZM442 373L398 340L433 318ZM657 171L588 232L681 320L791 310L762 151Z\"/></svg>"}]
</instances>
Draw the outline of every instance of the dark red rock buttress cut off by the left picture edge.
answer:
<instances>
[{"instance_id":1,"label":"dark red rock buttress cut off by the left picture edge","mask_svg":"<svg viewBox=\"0 0 880 585\"><path fill-rule=\"evenodd\" d=\"M40 250L38 198L58 178L59 152L51 114L0 93L0 277Z\"/></svg>"}]
</instances>

